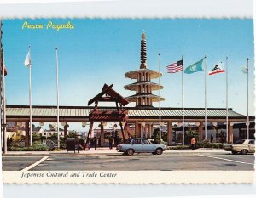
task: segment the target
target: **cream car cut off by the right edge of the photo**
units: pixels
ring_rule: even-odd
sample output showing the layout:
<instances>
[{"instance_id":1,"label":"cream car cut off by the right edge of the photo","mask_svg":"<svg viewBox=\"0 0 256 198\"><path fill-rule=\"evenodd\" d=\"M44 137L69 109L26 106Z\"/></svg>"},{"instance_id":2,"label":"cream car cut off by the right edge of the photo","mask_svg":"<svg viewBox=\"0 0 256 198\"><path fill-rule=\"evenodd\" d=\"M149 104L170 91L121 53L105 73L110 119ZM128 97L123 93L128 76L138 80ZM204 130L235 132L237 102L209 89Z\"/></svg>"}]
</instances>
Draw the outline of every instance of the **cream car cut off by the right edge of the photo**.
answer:
<instances>
[{"instance_id":1,"label":"cream car cut off by the right edge of the photo","mask_svg":"<svg viewBox=\"0 0 256 198\"><path fill-rule=\"evenodd\" d=\"M238 139L235 144L224 144L223 149L231 151L232 154L241 153L245 155L247 153L255 152L255 140L254 139Z\"/></svg>"}]
</instances>

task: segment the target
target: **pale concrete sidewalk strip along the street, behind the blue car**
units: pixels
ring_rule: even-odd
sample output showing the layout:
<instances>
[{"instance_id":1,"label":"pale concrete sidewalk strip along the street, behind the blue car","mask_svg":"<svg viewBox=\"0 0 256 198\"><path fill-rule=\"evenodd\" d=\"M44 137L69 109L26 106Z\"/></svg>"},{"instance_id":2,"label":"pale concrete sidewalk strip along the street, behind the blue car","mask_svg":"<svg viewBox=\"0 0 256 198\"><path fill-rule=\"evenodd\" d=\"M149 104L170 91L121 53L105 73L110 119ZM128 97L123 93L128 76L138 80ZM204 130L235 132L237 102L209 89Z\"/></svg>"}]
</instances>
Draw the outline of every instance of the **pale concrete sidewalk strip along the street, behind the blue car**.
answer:
<instances>
[{"instance_id":1,"label":"pale concrete sidewalk strip along the street, behind the blue car","mask_svg":"<svg viewBox=\"0 0 256 198\"><path fill-rule=\"evenodd\" d=\"M166 150L164 153L228 153L227 151L224 151L223 149L209 149L209 148L201 148L196 150ZM58 151L8 151L6 154L3 154L3 156L58 156L58 155L122 155L122 153L119 153L115 147L113 147L113 150L109 150L108 148L97 148L97 150L90 149L90 150L80 150L79 153L76 151L75 153L73 151L67 150L58 150Z\"/></svg>"}]
</instances>

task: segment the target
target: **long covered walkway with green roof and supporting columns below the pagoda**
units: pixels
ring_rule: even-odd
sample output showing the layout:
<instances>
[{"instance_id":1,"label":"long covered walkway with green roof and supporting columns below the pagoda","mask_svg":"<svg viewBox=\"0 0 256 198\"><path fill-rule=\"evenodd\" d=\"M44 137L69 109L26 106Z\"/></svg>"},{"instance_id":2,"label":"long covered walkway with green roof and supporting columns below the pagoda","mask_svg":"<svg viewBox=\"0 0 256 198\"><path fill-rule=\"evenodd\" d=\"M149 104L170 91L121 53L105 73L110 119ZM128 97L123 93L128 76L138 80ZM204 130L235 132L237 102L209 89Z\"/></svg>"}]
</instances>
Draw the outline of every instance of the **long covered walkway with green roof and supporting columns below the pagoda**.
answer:
<instances>
[{"instance_id":1,"label":"long covered walkway with green roof and supporting columns below the pagoda","mask_svg":"<svg viewBox=\"0 0 256 198\"><path fill-rule=\"evenodd\" d=\"M60 122L89 122L90 110L92 106L60 106ZM98 107L99 110L116 110L116 107ZM153 133L153 125L159 122L158 108L138 108L123 107L128 111L127 125L135 126L137 137L142 137L143 132ZM8 105L7 106L7 122L25 122L26 123L26 144L29 142L29 106L28 105ZM167 142L172 144L172 123L182 122L181 108L161 108L161 122L167 126ZM57 122L56 106L32 106L32 122ZM204 135L204 108L185 108L185 122L195 122L198 126L200 139ZM250 121L254 122L254 117L250 117ZM118 122L118 121L117 121ZM226 110L224 108L208 108L207 123L226 122ZM236 122L247 122L247 116L236 113L229 109L229 142L233 142L233 125ZM64 126L64 136L67 135L68 125ZM127 134L127 133L125 133Z\"/></svg>"}]
</instances>

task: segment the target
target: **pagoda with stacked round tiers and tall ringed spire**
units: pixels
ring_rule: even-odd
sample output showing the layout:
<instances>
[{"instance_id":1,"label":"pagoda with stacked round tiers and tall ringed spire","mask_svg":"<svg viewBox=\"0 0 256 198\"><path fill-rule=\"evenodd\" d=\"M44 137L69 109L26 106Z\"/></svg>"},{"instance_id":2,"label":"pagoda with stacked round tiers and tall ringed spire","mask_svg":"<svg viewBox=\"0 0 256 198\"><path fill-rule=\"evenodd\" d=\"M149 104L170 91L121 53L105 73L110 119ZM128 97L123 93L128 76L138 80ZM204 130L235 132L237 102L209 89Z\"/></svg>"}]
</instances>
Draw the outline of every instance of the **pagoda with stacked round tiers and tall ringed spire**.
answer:
<instances>
[{"instance_id":1,"label":"pagoda with stacked round tiers and tall ringed spire","mask_svg":"<svg viewBox=\"0 0 256 198\"><path fill-rule=\"evenodd\" d=\"M125 73L125 77L136 79L137 82L125 85L125 89L136 91L136 94L125 99L129 102L135 102L137 107L152 107L153 102L165 100L157 95L152 94L152 91L162 89L160 84L151 82L151 79L159 78L162 74L158 71L152 71L147 68L147 47L146 35L143 32L141 41L141 65L137 71L129 71Z\"/></svg>"}]
</instances>

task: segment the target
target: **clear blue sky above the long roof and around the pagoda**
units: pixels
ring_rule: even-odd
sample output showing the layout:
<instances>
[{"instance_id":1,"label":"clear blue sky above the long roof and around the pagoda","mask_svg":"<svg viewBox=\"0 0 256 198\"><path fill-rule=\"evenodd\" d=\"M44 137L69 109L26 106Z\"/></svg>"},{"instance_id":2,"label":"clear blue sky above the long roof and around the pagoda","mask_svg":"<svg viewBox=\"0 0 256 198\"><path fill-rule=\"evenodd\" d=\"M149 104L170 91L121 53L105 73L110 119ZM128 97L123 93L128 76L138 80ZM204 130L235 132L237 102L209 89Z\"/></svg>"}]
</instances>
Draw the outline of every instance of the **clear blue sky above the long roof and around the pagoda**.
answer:
<instances>
[{"instance_id":1,"label":"clear blue sky above the long roof and around the pagoda","mask_svg":"<svg viewBox=\"0 0 256 198\"><path fill-rule=\"evenodd\" d=\"M7 105L29 104L29 71L24 66L28 45L32 46L32 105L56 105L56 46L60 105L87 105L104 83L113 83L123 96L134 94L124 89L135 82L125 79L124 74L140 66L140 41L145 30L149 69L158 70L160 52L160 70L164 74L160 79L164 86L161 95L166 98L162 106L181 107L181 73L167 74L166 65L184 54L187 67L207 54L209 71L228 55L230 108L247 113L247 75L241 73L241 66L249 58L249 113L254 115L253 20L51 19L54 24L70 21L75 26L60 31L47 30L49 20L3 20ZM44 29L22 29L25 21L43 24ZM204 107L204 71L184 74L184 83L184 106ZM225 74L207 76L207 107L225 108Z\"/></svg>"}]
</instances>

